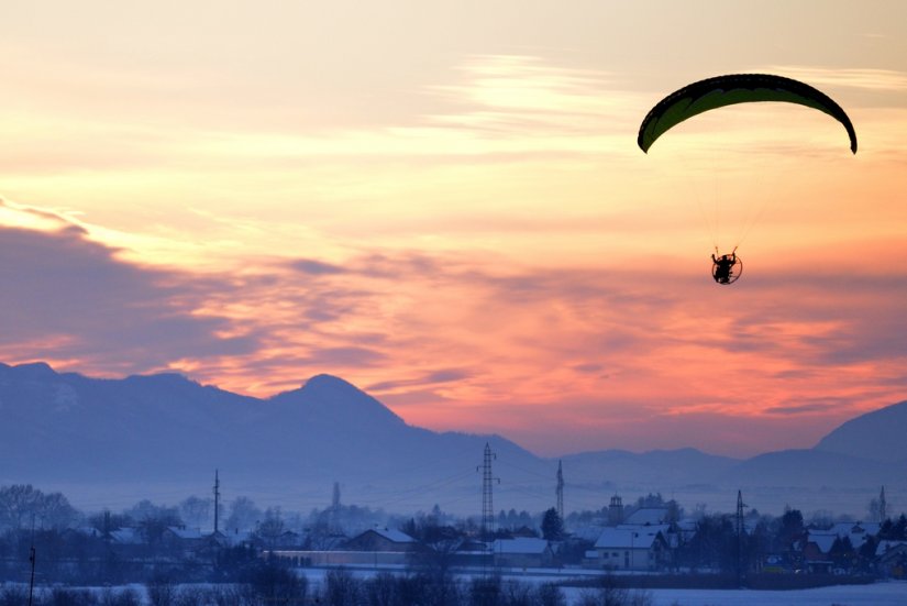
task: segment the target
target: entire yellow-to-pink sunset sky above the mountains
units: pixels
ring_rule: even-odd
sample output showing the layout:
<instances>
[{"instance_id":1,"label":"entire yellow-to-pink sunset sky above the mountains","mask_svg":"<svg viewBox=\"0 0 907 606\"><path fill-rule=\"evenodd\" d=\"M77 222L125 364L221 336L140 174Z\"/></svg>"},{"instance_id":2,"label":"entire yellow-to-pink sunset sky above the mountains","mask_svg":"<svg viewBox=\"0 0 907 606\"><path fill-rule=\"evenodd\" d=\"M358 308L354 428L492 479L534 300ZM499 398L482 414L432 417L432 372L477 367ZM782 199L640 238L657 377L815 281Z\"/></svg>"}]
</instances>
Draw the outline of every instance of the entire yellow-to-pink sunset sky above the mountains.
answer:
<instances>
[{"instance_id":1,"label":"entire yellow-to-pink sunset sky above the mountains","mask_svg":"<svg viewBox=\"0 0 907 606\"><path fill-rule=\"evenodd\" d=\"M0 21L0 362L259 397L329 373L543 455L809 448L907 399L907 2ZM836 99L856 155L787 103L637 146L665 95L746 71Z\"/></svg>"}]
</instances>

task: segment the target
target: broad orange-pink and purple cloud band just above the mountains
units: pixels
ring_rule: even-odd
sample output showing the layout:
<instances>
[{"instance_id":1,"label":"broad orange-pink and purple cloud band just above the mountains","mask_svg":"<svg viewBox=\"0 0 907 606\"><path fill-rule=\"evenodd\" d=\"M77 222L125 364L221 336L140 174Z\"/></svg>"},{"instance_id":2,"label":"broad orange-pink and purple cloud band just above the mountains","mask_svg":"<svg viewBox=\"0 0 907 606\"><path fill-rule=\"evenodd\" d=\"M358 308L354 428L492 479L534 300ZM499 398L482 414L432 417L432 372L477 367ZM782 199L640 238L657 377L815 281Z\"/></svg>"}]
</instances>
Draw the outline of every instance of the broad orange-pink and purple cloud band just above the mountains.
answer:
<instances>
[{"instance_id":1,"label":"broad orange-pink and purple cloud band just above the mountains","mask_svg":"<svg viewBox=\"0 0 907 606\"><path fill-rule=\"evenodd\" d=\"M16 285L0 294L4 362L179 370L259 396L328 372L410 423L537 448L538 423L632 448L703 416L728 434L809 416L818 439L854 407L903 399L897 268L826 263L793 276L768 260L722 289L671 257L583 266L360 246L199 273L139 263L54 211L3 208L37 219L0 231L0 278Z\"/></svg>"}]
</instances>

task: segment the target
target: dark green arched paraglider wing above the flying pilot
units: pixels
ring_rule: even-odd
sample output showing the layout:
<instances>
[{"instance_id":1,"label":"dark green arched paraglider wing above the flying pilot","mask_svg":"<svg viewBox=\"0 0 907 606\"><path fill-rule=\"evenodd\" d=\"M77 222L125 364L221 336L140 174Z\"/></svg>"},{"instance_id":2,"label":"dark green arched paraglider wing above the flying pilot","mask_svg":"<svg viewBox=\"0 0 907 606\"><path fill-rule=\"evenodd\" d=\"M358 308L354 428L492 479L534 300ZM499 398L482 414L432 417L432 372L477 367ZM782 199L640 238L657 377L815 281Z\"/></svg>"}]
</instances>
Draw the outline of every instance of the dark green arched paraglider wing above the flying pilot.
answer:
<instances>
[{"instance_id":1,"label":"dark green arched paraglider wing above the flying pilot","mask_svg":"<svg viewBox=\"0 0 907 606\"><path fill-rule=\"evenodd\" d=\"M755 101L784 101L823 111L843 124L850 136L850 150L856 153L856 131L841 106L807 84L768 74L717 76L672 92L649 111L637 142L648 153L655 140L697 113Z\"/></svg>"}]
</instances>

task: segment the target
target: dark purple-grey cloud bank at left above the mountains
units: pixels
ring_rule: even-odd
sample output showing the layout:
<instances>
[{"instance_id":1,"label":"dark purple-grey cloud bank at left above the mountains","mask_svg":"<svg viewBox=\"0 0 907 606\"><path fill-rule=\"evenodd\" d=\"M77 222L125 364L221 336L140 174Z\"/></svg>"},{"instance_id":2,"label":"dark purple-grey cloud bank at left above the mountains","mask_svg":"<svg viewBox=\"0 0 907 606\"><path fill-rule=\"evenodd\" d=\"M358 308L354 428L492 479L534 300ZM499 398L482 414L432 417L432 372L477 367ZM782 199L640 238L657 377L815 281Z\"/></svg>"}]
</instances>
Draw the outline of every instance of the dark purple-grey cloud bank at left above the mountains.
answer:
<instances>
[{"instance_id":1,"label":"dark purple-grey cloud bank at left above the mountains","mask_svg":"<svg viewBox=\"0 0 907 606\"><path fill-rule=\"evenodd\" d=\"M195 313L211 286L200 276L119 261L78 229L0 228L0 355L85 365L103 374L170 366L182 356L242 355L248 337L219 337L222 318Z\"/></svg>"}]
</instances>

